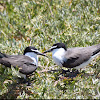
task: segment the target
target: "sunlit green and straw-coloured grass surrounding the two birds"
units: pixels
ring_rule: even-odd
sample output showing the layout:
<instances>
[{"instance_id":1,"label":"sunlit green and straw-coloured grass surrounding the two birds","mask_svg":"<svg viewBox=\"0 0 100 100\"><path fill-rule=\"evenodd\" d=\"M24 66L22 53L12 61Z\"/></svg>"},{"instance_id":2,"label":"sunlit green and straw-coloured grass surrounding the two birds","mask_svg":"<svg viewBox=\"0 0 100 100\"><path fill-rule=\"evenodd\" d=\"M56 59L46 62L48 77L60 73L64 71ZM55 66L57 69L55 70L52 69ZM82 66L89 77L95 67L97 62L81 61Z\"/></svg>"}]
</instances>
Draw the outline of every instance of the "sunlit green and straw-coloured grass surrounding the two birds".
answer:
<instances>
[{"instance_id":1,"label":"sunlit green and straw-coloured grass surrounding the two birds","mask_svg":"<svg viewBox=\"0 0 100 100\"><path fill-rule=\"evenodd\" d=\"M99 0L1 0L0 51L22 54L34 45L41 52L54 43L85 47L100 43ZM32 86L17 84L13 69L0 65L0 99L100 99L100 57L73 80L59 79L59 69L49 57L39 56Z\"/></svg>"}]
</instances>

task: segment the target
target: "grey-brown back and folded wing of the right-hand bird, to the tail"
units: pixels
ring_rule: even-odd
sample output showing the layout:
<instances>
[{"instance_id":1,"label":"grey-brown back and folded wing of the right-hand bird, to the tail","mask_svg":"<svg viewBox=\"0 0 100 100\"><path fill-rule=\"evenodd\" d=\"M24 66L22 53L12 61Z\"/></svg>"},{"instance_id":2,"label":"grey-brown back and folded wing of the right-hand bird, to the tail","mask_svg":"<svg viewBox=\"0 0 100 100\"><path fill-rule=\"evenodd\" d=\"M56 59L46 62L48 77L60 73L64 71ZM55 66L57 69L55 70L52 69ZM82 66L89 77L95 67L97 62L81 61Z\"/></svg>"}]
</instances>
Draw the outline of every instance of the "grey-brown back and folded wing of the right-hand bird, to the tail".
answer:
<instances>
[{"instance_id":1,"label":"grey-brown back and folded wing of the right-hand bird, to the tail","mask_svg":"<svg viewBox=\"0 0 100 100\"><path fill-rule=\"evenodd\" d=\"M100 44L89 47L68 48L65 54L64 67L73 68L88 61L92 56L100 52Z\"/></svg>"}]
</instances>

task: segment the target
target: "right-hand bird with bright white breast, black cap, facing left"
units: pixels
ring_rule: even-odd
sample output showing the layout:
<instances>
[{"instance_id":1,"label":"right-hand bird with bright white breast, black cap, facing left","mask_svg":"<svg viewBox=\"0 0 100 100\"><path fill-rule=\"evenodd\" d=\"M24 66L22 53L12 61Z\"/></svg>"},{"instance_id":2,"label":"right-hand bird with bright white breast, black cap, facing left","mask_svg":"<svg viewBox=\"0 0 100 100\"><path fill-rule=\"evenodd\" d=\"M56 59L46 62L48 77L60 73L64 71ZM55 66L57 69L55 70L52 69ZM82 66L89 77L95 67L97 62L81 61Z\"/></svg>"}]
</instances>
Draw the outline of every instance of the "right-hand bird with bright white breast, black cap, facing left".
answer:
<instances>
[{"instance_id":1,"label":"right-hand bird with bright white breast, black cap, facing left","mask_svg":"<svg viewBox=\"0 0 100 100\"><path fill-rule=\"evenodd\" d=\"M52 52L54 62L62 67L68 69L81 69L87 66L90 61L100 54L100 44L88 47L74 47L66 48L64 43L55 43L43 53Z\"/></svg>"}]
</instances>

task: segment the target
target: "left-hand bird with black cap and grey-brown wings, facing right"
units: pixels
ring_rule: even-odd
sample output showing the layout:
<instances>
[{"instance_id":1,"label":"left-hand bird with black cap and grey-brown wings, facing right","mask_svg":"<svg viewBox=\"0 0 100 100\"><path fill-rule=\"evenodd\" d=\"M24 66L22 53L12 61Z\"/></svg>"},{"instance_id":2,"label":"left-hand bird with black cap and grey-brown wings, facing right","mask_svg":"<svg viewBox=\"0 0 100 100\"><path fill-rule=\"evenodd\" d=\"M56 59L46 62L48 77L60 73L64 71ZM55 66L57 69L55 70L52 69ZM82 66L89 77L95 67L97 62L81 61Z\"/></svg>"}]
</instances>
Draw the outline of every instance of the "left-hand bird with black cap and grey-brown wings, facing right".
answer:
<instances>
[{"instance_id":1,"label":"left-hand bird with black cap and grey-brown wings, facing right","mask_svg":"<svg viewBox=\"0 0 100 100\"><path fill-rule=\"evenodd\" d=\"M19 68L19 75L21 78L32 74L38 67L38 56L45 54L40 53L34 46L25 48L23 55L7 55L0 52L0 64L11 68ZM47 57L47 56L46 56Z\"/></svg>"}]
</instances>

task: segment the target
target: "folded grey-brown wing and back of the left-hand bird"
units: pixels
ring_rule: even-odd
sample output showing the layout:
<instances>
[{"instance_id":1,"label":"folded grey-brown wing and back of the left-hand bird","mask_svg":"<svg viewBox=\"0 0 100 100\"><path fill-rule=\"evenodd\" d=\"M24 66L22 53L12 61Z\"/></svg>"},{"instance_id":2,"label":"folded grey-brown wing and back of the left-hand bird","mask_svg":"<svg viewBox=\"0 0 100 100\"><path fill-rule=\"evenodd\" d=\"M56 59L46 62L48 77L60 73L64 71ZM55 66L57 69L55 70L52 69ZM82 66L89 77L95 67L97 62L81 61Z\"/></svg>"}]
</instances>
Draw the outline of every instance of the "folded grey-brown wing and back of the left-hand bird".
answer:
<instances>
[{"instance_id":1,"label":"folded grey-brown wing and back of the left-hand bird","mask_svg":"<svg viewBox=\"0 0 100 100\"><path fill-rule=\"evenodd\" d=\"M3 65L7 67L19 67L19 71L23 74L31 74L37 68L34 61L28 56L11 55L8 58L2 58Z\"/></svg>"}]
</instances>

